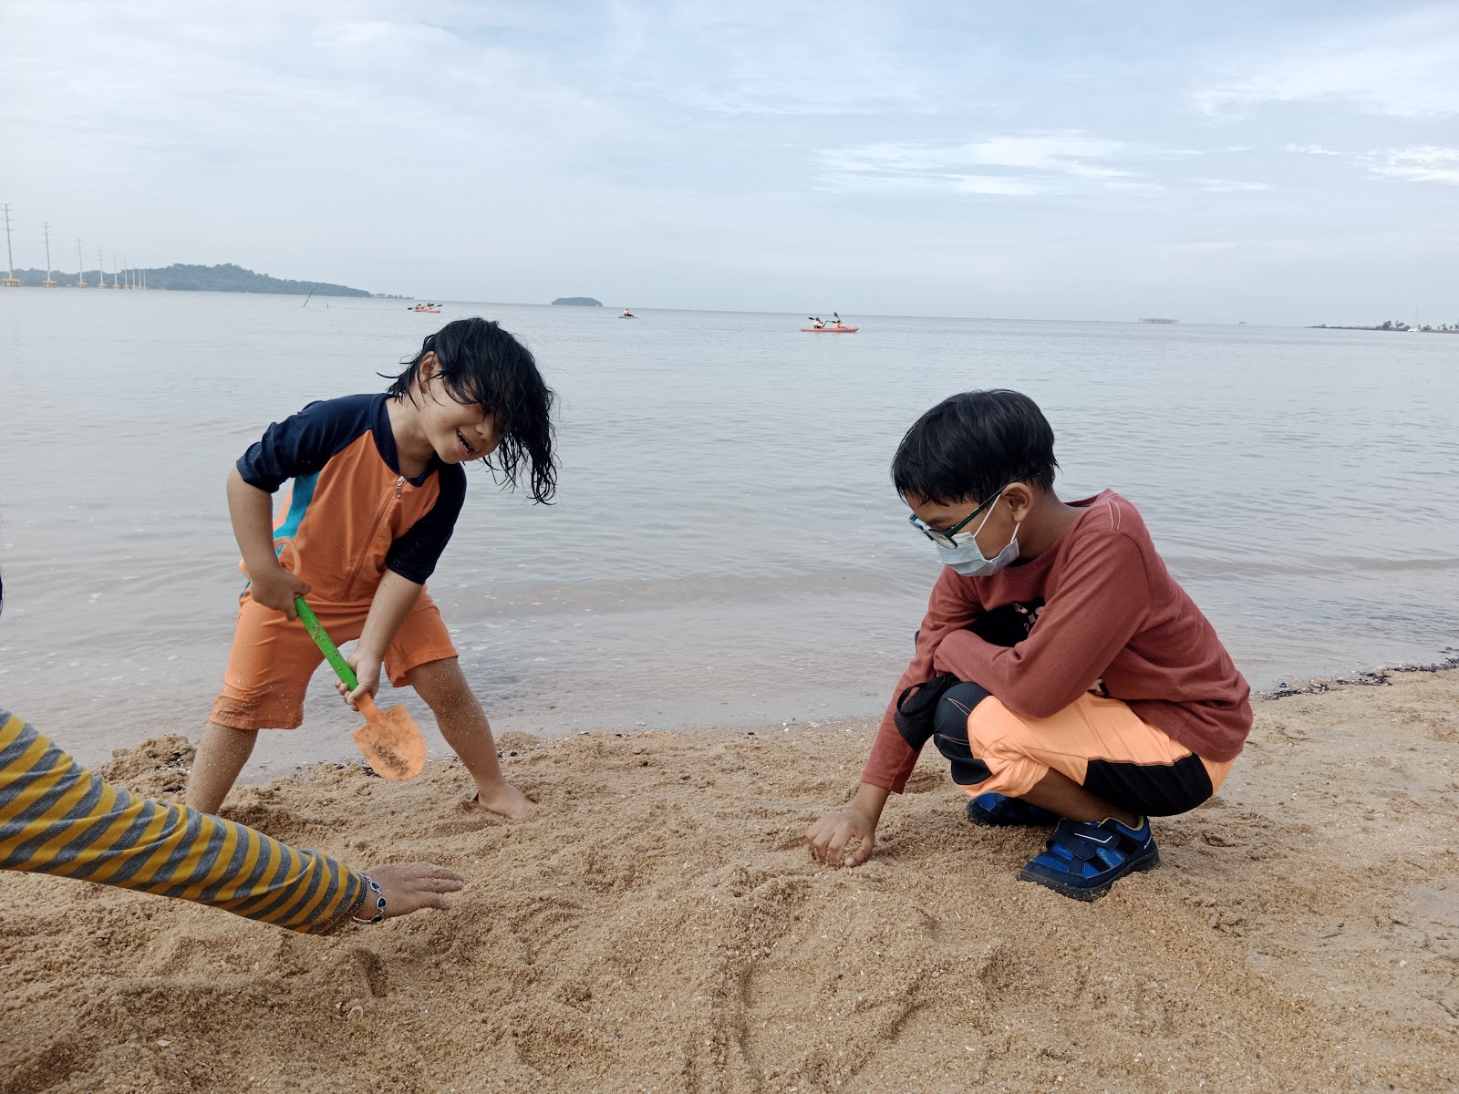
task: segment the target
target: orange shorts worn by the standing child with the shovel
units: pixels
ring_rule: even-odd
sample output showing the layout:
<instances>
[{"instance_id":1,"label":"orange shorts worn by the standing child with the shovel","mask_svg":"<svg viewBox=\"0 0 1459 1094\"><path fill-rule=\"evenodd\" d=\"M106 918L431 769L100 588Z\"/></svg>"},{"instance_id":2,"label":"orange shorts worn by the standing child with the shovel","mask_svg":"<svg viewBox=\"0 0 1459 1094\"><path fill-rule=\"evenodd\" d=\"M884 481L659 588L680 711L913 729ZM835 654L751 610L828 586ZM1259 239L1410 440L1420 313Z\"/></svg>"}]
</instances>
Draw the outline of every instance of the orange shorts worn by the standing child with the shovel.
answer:
<instances>
[{"instance_id":1,"label":"orange shorts worn by the standing child with the shovel","mask_svg":"<svg viewBox=\"0 0 1459 1094\"><path fill-rule=\"evenodd\" d=\"M238 630L223 672L223 690L209 715L233 729L295 729L303 721L303 693L324 661L299 620L266 608L247 592L238 598ZM363 604L311 604L336 645L360 636L369 601ZM385 651L385 674L395 687L409 683L410 670L454 658L455 646L441 610L422 589Z\"/></svg>"}]
</instances>

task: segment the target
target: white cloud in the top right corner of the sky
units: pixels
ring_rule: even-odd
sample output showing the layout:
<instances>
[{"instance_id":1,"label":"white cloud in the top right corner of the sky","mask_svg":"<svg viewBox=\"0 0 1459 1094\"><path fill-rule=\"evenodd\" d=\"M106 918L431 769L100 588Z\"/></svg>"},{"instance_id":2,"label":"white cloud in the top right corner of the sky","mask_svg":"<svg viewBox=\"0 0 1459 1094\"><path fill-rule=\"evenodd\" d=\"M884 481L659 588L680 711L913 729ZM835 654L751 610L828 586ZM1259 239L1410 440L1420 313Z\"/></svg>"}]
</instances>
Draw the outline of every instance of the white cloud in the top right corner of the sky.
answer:
<instances>
[{"instance_id":1,"label":"white cloud in the top right corner of the sky","mask_svg":"<svg viewBox=\"0 0 1459 1094\"><path fill-rule=\"evenodd\" d=\"M1399 118L1459 114L1459 7L1315 34L1196 92L1205 114L1266 102L1345 101Z\"/></svg>"}]
</instances>

